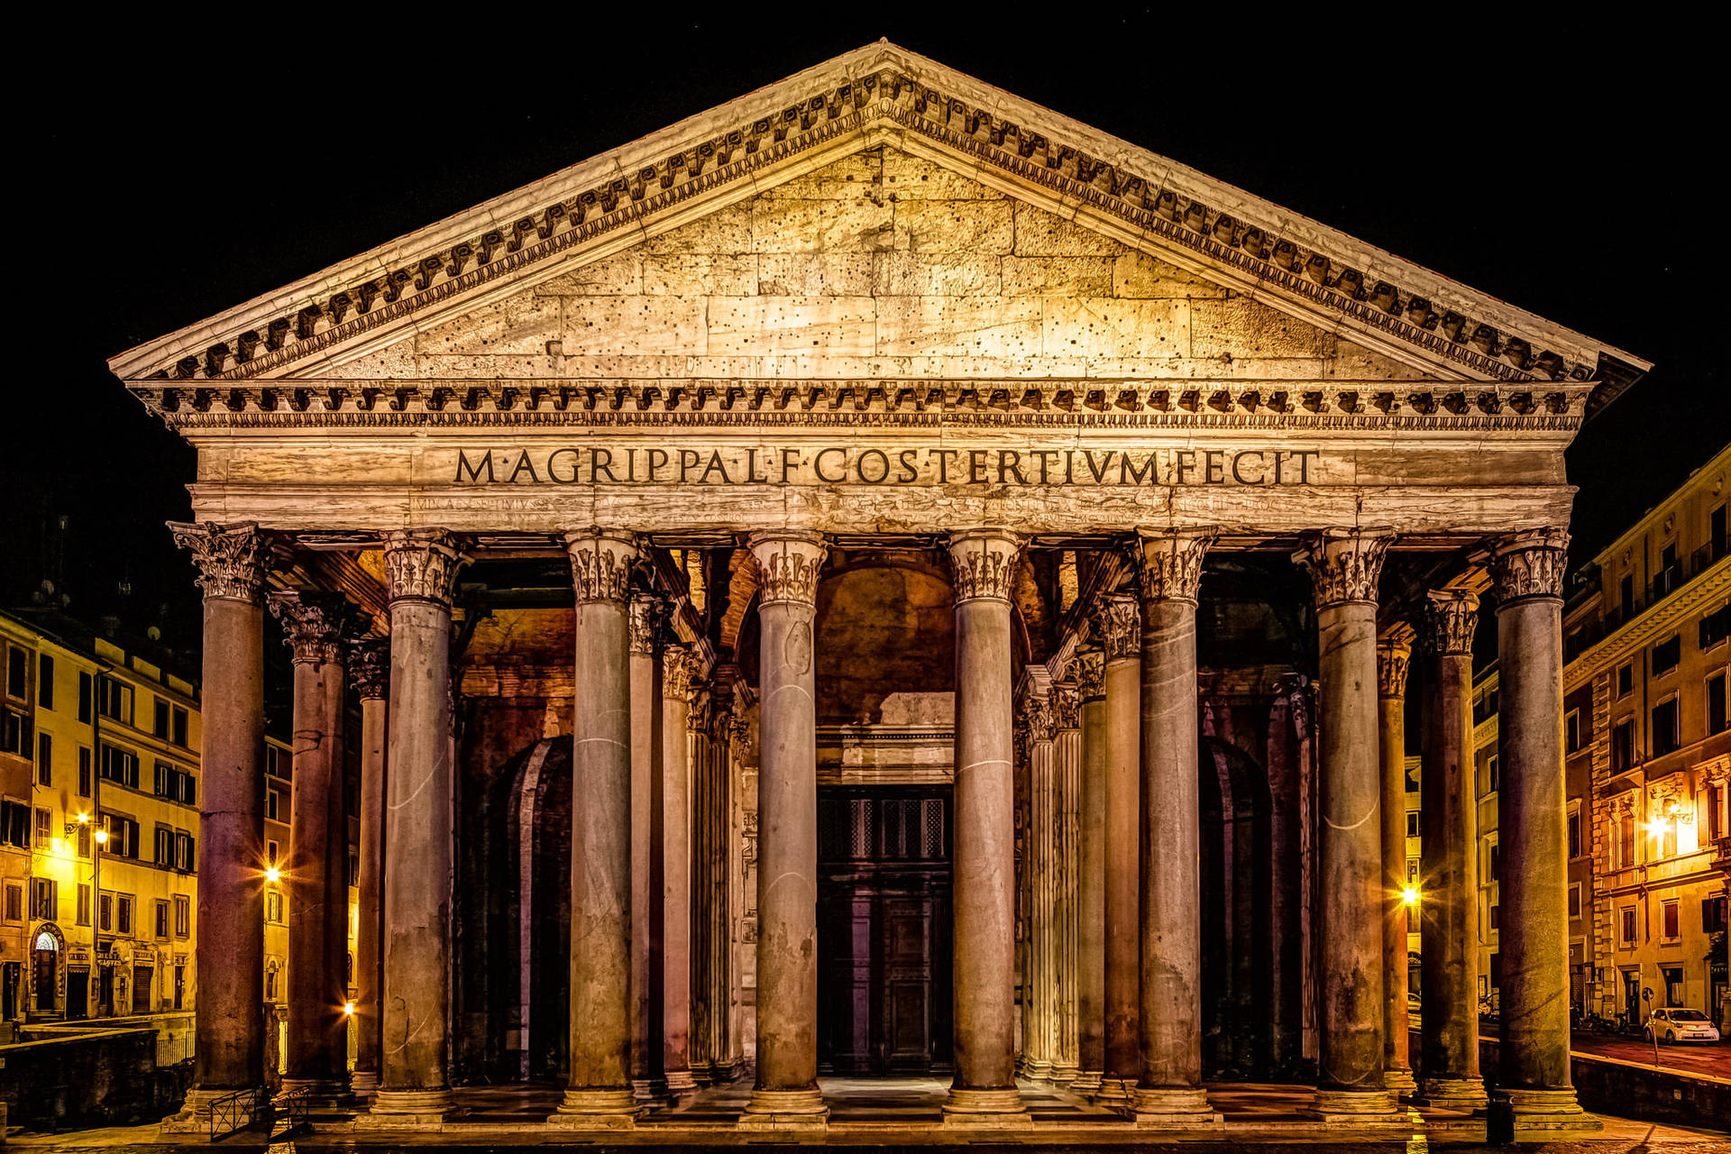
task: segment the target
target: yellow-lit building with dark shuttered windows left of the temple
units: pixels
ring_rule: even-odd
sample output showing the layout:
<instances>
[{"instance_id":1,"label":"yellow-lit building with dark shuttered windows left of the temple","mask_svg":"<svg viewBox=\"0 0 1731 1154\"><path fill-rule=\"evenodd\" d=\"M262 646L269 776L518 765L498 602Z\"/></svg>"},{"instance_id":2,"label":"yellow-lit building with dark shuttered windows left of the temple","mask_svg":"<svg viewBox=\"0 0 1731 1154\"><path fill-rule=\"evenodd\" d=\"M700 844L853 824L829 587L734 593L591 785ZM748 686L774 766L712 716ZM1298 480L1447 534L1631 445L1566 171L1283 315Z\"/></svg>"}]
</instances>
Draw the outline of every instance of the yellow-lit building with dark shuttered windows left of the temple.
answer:
<instances>
[{"instance_id":1,"label":"yellow-lit building with dark shuttered windows left of the temple","mask_svg":"<svg viewBox=\"0 0 1731 1154\"><path fill-rule=\"evenodd\" d=\"M7 1035L28 1023L190 1012L197 997L197 687L66 626L0 612ZM280 1016L289 896L275 865L289 855L293 751L265 744L265 1000ZM355 901L351 886L351 938Z\"/></svg>"}]
</instances>

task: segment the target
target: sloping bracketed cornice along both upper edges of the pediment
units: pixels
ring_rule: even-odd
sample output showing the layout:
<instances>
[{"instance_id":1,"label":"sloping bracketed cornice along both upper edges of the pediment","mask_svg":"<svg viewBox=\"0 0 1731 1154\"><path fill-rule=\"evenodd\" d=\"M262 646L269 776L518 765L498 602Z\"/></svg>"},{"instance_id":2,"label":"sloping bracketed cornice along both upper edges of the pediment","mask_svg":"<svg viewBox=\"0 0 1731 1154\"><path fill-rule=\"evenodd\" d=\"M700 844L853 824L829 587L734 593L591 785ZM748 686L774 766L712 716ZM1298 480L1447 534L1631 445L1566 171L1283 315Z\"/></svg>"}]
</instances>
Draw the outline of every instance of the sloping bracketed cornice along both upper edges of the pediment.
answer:
<instances>
[{"instance_id":1,"label":"sloping bracketed cornice along both upper edges of the pediment","mask_svg":"<svg viewBox=\"0 0 1731 1154\"><path fill-rule=\"evenodd\" d=\"M1028 199L1059 202L1080 223L1172 251L1288 311L1406 349L1409 360L1496 381L1587 381L1603 367L1618 388L1648 367L888 43L495 197L109 365L128 382L282 372L559 256L673 227L698 201L737 199L774 185L777 168L798 168L817 151L833 159L883 133Z\"/></svg>"}]
</instances>

